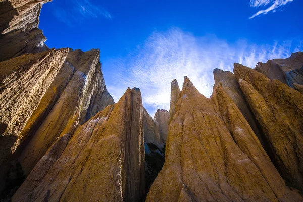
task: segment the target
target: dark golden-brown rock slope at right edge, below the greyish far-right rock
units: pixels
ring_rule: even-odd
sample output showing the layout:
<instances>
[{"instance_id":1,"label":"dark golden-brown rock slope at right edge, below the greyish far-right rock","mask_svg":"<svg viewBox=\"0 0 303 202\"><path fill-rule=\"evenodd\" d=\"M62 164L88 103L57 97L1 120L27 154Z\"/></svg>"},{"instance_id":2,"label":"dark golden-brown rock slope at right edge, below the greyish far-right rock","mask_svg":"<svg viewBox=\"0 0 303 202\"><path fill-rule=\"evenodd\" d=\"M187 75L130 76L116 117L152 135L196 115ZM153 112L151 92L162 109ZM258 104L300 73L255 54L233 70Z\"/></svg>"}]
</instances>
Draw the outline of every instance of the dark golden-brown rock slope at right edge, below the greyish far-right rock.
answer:
<instances>
[{"instance_id":1,"label":"dark golden-brown rock slope at right edge, below the greyish far-right rock","mask_svg":"<svg viewBox=\"0 0 303 202\"><path fill-rule=\"evenodd\" d=\"M240 87L269 142L281 176L303 190L303 96L278 80L234 65Z\"/></svg>"}]
</instances>

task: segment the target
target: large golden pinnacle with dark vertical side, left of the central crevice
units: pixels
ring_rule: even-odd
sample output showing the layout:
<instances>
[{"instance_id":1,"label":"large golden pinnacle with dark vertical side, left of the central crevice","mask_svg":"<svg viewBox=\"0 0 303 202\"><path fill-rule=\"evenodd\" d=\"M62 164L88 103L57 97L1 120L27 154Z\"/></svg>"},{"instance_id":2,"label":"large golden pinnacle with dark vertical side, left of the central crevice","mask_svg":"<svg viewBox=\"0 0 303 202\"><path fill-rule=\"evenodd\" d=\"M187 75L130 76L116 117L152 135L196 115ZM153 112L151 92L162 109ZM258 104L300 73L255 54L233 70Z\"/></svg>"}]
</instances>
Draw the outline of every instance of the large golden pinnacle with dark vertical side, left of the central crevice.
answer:
<instances>
[{"instance_id":1,"label":"large golden pinnacle with dark vertical side, left of the central crevice","mask_svg":"<svg viewBox=\"0 0 303 202\"><path fill-rule=\"evenodd\" d=\"M62 135L12 201L138 201L144 188L143 108L134 88Z\"/></svg>"}]
</instances>

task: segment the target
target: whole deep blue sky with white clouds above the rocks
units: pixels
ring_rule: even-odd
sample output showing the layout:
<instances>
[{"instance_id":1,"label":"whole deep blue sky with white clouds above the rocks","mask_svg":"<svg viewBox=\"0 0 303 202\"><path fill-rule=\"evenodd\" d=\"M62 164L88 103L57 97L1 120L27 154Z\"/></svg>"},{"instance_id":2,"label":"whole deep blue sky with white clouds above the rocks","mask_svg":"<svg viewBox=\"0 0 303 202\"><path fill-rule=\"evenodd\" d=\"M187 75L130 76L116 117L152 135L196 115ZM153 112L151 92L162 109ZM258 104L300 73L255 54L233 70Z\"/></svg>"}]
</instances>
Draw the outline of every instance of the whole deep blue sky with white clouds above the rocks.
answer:
<instances>
[{"instance_id":1,"label":"whole deep blue sky with white clouds above the rocks","mask_svg":"<svg viewBox=\"0 0 303 202\"><path fill-rule=\"evenodd\" d=\"M117 102L139 87L151 116L169 109L170 83L187 75L209 97L213 69L303 51L301 0L53 0L39 28L49 47L100 49L107 88Z\"/></svg>"}]
</instances>

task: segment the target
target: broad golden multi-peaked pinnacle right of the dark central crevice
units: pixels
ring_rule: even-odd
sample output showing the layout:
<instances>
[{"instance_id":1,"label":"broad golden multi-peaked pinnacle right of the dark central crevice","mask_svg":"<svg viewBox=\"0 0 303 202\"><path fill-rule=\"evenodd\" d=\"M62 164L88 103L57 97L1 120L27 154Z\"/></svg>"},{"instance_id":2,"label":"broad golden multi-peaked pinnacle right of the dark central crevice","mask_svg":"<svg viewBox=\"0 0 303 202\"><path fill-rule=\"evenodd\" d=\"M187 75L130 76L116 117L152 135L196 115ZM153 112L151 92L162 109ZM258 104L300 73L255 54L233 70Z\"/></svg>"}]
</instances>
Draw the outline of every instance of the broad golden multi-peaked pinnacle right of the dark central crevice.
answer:
<instances>
[{"instance_id":1,"label":"broad golden multi-peaked pinnacle right of the dark central crevice","mask_svg":"<svg viewBox=\"0 0 303 202\"><path fill-rule=\"evenodd\" d=\"M208 99L185 77L178 97L165 164L147 201L302 200L286 187L222 85Z\"/></svg>"}]
</instances>

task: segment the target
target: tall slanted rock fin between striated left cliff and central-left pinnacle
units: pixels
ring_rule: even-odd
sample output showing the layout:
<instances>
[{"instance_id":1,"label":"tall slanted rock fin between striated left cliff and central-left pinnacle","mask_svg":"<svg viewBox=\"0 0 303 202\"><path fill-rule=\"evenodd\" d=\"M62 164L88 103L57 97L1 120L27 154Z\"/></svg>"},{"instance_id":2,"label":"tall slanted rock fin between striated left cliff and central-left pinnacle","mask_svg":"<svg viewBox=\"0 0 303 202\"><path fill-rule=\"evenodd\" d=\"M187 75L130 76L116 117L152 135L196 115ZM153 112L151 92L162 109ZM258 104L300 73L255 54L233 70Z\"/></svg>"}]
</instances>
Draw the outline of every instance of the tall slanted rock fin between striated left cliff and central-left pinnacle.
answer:
<instances>
[{"instance_id":1,"label":"tall slanted rock fin between striated left cliff and central-left pinnacle","mask_svg":"<svg viewBox=\"0 0 303 202\"><path fill-rule=\"evenodd\" d=\"M71 51L64 63L64 70L46 92L45 99L42 99L38 109L33 113L20 139L20 142L24 140L26 142L18 151L20 156L17 157L17 163L20 162L25 176L56 141L66 125L74 121L76 115L77 122L81 124L102 110L105 103L114 103L111 97L100 103L105 83L98 50ZM97 106L94 106L94 103L97 103ZM94 111L90 110L87 115L89 106ZM26 139L27 137L30 139Z\"/></svg>"}]
</instances>

